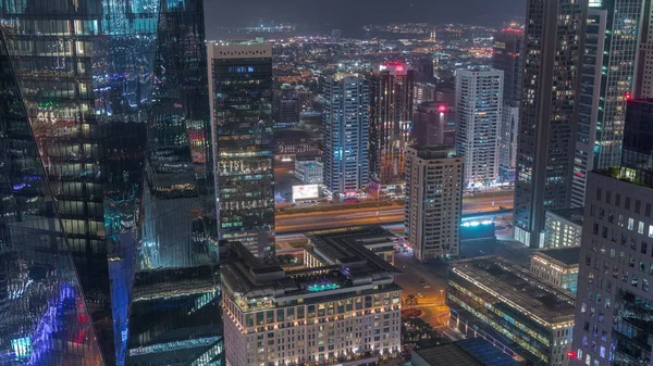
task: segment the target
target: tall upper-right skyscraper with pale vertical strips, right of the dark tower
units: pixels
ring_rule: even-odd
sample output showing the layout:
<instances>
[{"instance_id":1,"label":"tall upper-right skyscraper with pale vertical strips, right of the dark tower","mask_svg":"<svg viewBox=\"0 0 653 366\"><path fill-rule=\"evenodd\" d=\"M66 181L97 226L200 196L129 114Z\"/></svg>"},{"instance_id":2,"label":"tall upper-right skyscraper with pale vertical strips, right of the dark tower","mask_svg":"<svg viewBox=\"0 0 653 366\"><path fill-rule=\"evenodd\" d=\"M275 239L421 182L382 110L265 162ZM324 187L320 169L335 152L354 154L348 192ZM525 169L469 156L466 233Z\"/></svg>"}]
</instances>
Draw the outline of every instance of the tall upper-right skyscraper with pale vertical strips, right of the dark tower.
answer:
<instances>
[{"instance_id":1,"label":"tall upper-right skyscraper with pale vertical strips, right of the dark tower","mask_svg":"<svg viewBox=\"0 0 653 366\"><path fill-rule=\"evenodd\" d=\"M619 163L641 15L642 0L590 2L578 99L572 206L583 206L588 172Z\"/></svg>"}]
</instances>

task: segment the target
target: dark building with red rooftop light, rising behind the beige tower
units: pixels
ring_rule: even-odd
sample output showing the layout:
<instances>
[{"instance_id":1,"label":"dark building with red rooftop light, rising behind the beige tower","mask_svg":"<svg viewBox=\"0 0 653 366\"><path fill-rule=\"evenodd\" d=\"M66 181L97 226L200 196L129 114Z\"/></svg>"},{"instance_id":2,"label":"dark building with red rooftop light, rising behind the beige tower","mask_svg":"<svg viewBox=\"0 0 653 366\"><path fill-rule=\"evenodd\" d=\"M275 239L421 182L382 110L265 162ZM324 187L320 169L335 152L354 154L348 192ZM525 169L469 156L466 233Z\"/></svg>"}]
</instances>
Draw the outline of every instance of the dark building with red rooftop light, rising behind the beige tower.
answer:
<instances>
[{"instance_id":1,"label":"dark building with red rooftop light, rising behind the beige tower","mask_svg":"<svg viewBox=\"0 0 653 366\"><path fill-rule=\"evenodd\" d=\"M419 104L412 114L412 141L418 146L453 147L456 140L456 113L439 102Z\"/></svg>"}]
</instances>

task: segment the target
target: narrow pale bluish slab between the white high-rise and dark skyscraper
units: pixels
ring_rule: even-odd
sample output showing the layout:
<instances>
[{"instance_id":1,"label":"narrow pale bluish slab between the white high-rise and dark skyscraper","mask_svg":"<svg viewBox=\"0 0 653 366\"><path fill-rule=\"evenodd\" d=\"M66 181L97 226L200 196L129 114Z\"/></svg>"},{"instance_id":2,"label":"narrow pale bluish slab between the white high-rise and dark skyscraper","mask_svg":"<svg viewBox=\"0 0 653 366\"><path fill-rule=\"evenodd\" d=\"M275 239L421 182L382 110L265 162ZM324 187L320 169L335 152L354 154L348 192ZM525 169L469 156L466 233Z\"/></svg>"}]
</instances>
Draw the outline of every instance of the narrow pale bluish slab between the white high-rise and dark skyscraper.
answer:
<instances>
[{"instance_id":1,"label":"narrow pale bluish slab between the white high-rise and dark skyscraper","mask_svg":"<svg viewBox=\"0 0 653 366\"><path fill-rule=\"evenodd\" d=\"M498 129L498 181L514 184L519 138L519 104L504 103Z\"/></svg>"}]
</instances>

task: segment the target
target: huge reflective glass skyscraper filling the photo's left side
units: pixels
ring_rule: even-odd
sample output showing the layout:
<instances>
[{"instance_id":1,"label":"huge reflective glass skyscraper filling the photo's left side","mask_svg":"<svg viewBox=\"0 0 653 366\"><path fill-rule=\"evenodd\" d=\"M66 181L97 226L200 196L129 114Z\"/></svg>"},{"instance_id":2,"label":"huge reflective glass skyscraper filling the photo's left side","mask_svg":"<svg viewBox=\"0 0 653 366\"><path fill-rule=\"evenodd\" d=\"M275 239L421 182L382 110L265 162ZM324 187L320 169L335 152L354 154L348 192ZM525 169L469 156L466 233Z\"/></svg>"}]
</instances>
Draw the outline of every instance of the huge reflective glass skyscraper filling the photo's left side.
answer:
<instances>
[{"instance_id":1,"label":"huge reflective glass skyscraper filling the photo's left side","mask_svg":"<svg viewBox=\"0 0 653 366\"><path fill-rule=\"evenodd\" d=\"M0 363L220 362L201 0L0 15Z\"/></svg>"}]
</instances>

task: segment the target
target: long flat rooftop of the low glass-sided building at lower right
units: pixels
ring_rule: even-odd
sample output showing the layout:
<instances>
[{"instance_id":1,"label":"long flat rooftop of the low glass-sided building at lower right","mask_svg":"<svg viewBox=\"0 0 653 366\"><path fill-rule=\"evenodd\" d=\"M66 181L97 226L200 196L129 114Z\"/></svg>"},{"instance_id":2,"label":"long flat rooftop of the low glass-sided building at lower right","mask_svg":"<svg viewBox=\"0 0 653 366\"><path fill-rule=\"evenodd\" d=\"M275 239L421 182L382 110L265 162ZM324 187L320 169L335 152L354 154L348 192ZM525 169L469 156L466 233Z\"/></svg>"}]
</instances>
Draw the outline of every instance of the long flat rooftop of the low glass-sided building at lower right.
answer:
<instances>
[{"instance_id":1,"label":"long flat rooftop of the low glass-sided building at lower right","mask_svg":"<svg viewBox=\"0 0 653 366\"><path fill-rule=\"evenodd\" d=\"M549 326L574 321L574 295L507 260L491 255L453 262L449 270L483 289L506 306Z\"/></svg>"}]
</instances>

